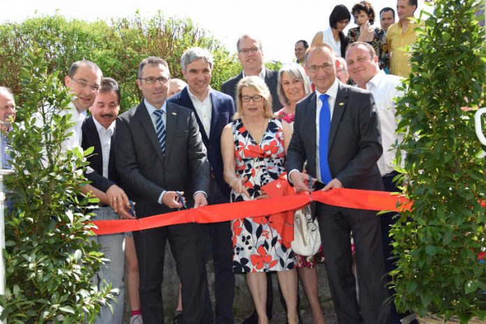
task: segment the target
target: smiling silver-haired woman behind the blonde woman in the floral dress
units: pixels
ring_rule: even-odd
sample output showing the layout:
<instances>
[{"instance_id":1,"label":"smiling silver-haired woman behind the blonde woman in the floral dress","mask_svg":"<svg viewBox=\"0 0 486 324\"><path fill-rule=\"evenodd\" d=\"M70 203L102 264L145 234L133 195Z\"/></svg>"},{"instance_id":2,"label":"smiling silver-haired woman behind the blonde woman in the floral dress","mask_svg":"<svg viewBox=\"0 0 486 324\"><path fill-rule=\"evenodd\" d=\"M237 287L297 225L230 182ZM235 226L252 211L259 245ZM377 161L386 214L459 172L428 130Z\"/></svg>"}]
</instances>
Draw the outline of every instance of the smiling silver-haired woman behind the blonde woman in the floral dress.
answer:
<instances>
[{"instance_id":1,"label":"smiling silver-haired woman behind the blonde woman in the floral dress","mask_svg":"<svg viewBox=\"0 0 486 324\"><path fill-rule=\"evenodd\" d=\"M277 93L283 108L275 112L275 117L281 119L283 124L288 123L293 128L295 118L295 106L311 91L311 85L305 75L304 68L299 64L286 64L279 71ZM309 306L311 307L314 324L324 324L324 314L319 302L317 263L324 262L323 248L314 256L295 257L295 267L304 288Z\"/></svg>"}]
</instances>

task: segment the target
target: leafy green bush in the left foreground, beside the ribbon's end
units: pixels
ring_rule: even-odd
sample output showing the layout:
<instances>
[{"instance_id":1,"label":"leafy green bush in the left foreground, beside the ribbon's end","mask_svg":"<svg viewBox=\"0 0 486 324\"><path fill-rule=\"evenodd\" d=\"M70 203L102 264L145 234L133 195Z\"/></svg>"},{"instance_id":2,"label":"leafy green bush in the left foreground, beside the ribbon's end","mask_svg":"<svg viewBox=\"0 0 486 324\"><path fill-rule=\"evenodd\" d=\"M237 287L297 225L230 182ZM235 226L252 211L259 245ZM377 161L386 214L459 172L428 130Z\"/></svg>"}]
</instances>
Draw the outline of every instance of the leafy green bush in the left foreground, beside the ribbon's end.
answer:
<instances>
[{"instance_id":1,"label":"leafy green bush in the left foreground, beside the ribbon's end","mask_svg":"<svg viewBox=\"0 0 486 324\"><path fill-rule=\"evenodd\" d=\"M108 288L98 290L91 277L103 264L98 246L90 244L84 156L61 153L61 142L72 124L61 110L71 102L68 91L48 73L45 53L25 59L20 72L24 104L17 110L22 123L8 137L14 175L6 178L13 208L6 216L6 293L0 295L1 319L8 323L94 323ZM44 126L36 126L40 117ZM81 200L81 201L80 201ZM94 200L91 200L94 202Z\"/></svg>"}]
</instances>

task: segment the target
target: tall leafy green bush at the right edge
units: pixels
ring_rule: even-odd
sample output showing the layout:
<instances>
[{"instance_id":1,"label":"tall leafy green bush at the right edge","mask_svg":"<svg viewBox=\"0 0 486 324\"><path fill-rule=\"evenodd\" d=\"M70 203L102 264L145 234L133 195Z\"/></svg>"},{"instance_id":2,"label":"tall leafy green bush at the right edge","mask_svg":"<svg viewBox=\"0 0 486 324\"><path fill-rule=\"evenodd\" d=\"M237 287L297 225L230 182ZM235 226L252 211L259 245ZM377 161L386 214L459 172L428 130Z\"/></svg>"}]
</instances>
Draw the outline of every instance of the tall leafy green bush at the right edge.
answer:
<instances>
[{"instance_id":1,"label":"tall leafy green bush at the right edge","mask_svg":"<svg viewBox=\"0 0 486 324\"><path fill-rule=\"evenodd\" d=\"M399 100L404 193L413 210L392 229L399 309L486 317L486 159L474 133L485 103L485 29L476 0L436 0L418 30L408 91ZM423 13L425 14L425 13ZM483 19L480 17L480 19ZM462 109L470 107L472 110ZM399 158L399 156L397 156Z\"/></svg>"}]
</instances>

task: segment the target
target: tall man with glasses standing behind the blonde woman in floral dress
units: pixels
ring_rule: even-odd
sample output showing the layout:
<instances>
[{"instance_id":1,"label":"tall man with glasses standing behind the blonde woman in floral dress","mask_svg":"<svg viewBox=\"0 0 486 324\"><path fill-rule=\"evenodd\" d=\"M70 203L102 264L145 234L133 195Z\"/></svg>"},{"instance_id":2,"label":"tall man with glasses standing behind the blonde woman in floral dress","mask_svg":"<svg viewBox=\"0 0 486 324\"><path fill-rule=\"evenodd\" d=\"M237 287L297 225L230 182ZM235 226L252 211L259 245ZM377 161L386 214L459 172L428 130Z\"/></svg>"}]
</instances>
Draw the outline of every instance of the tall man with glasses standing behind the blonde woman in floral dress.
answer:
<instances>
[{"instance_id":1,"label":"tall man with glasses standing behind the blonde woman in floral dress","mask_svg":"<svg viewBox=\"0 0 486 324\"><path fill-rule=\"evenodd\" d=\"M251 75L258 75L265 80L270 94L272 94L272 108L274 112L282 108L277 94L278 80L277 71L269 70L263 66L263 47L259 39L253 38L249 35L243 35L238 38L236 43L236 50L238 51L238 59L242 64L243 71L235 77L227 80L221 86L221 92L228 94L236 102L236 85L242 78Z\"/></svg>"}]
</instances>

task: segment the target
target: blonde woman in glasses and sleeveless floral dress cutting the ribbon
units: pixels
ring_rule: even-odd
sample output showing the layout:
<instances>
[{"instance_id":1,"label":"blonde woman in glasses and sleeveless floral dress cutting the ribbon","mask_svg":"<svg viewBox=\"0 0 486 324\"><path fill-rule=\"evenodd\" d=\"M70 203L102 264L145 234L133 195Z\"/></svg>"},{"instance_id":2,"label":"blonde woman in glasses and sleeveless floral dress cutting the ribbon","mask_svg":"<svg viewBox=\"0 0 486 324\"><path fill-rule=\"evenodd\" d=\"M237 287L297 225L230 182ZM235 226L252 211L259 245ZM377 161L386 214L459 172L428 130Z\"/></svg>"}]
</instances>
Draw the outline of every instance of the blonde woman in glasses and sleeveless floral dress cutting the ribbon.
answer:
<instances>
[{"instance_id":1,"label":"blonde woman in glasses and sleeveless floral dress cutting the ribbon","mask_svg":"<svg viewBox=\"0 0 486 324\"><path fill-rule=\"evenodd\" d=\"M236 98L234 121L221 135L224 179L231 187L232 202L265 198L261 187L284 172L290 127L273 118L272 96L260 78L240 80ZM277 272L288 323L298 321L294 253L282 223L271 215L232 221L233 270L246 274L260 324L268 323L265 310L268 271Z\"/></svg>"}]
</instances>

